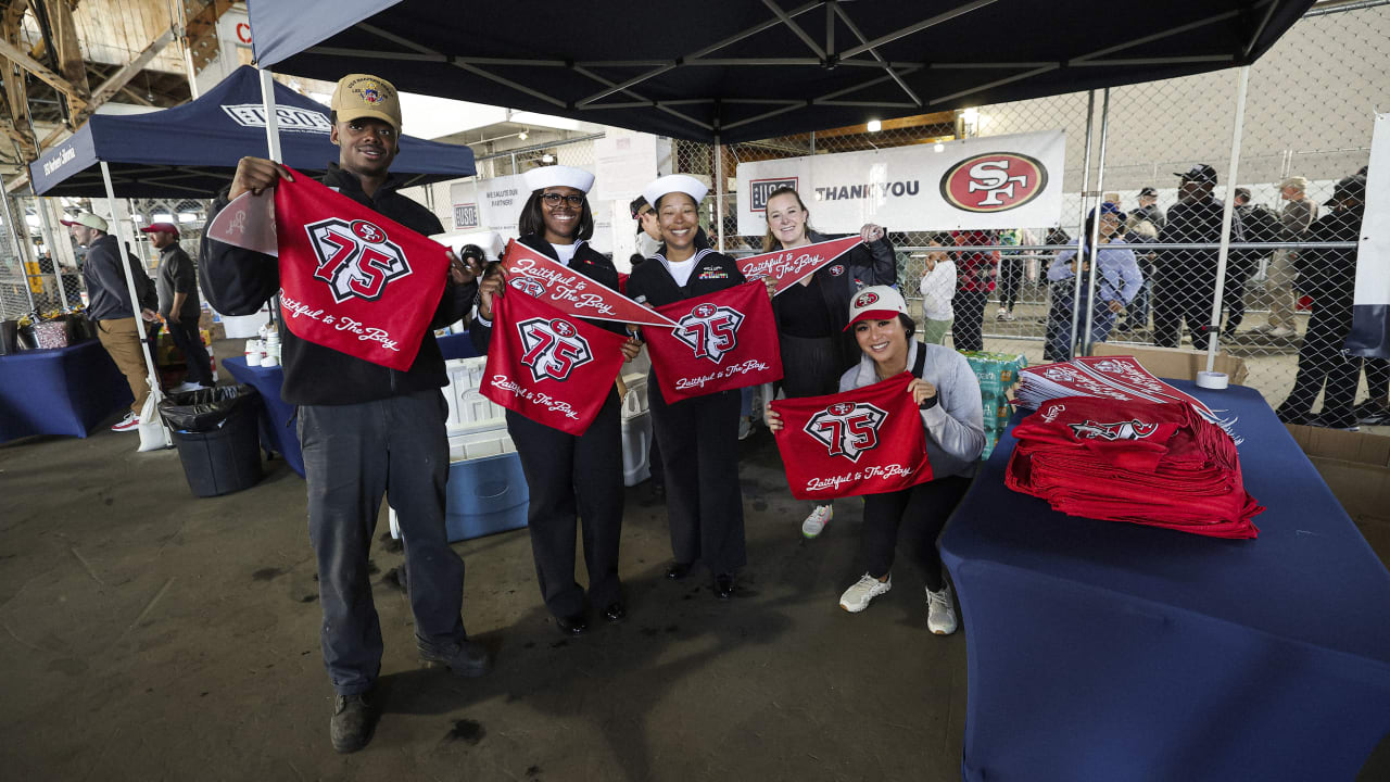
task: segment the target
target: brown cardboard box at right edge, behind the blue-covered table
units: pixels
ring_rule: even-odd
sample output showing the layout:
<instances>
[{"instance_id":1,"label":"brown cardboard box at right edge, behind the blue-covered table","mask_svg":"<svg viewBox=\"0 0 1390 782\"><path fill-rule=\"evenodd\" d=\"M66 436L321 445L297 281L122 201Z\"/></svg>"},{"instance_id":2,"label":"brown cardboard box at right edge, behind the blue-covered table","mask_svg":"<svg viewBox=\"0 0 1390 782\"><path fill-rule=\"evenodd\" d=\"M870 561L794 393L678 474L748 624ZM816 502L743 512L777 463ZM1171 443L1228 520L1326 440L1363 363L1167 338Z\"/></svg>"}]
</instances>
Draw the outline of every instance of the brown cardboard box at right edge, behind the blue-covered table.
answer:
<instances>
[{"instance_id":1,"label":"brown cardboard box at right edge, behind the blue-covered table","mask_svg":"<svg viewBox=\"0 0 1390 782\"><path fill-rule=\"evenodd\" d=\"M1390 568L1390 437L1286 426L1380 562Z\"/></svg>"}]
</instances>

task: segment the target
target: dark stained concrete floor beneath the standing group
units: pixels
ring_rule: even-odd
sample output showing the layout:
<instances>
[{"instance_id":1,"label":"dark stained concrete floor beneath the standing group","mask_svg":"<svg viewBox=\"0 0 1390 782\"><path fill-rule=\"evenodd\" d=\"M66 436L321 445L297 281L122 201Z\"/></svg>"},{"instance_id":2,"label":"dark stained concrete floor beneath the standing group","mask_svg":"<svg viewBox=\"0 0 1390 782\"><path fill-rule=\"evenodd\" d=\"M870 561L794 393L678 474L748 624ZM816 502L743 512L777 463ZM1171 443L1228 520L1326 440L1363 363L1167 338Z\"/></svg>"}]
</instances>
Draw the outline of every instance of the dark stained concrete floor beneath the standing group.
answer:
<instances>
[{"instance_id":1,"label":"dark stained concrete floor beneath the standing group","mask_svg":"<svg viewBox=\"0 0 1390 782\"><path fill-rule=\"evenodd\" d=\"M456 545L482 679L424 668L399 550L374 554L386 653L371 746L338 756L304 484L196 500L135 434L0 447L0 776L8 779L959 779L965 635L926 630L922 579L859 615L859 506L815 541L764 431L744 442L737 598L662 577L664 508L627 491L628 619L567 640L525 530ZM378 534L386 534L385 515ZM582 580L582 576L581 576ZM965 618L969 622L969 618ZM1361 781L1390 779L1390 742Z\"/></svg>"}]
</instances>

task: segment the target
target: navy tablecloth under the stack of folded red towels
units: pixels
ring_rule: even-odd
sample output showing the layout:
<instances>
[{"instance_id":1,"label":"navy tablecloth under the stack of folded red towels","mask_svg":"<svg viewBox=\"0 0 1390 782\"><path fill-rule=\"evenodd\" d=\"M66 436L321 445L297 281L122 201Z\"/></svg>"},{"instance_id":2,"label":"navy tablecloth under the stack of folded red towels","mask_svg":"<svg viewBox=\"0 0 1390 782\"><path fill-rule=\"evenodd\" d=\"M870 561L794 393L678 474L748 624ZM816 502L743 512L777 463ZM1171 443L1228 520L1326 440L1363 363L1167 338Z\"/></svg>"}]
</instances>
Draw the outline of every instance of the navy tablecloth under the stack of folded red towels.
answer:
<instances>
[{"instance_id":1,"label":"navy tablecloth under the stack of folded red towels","mask_svg":"<svg viewBox=\"0 0 1390 782\"><path fill-rule=\"evenodd\" d=\"M1054 512L1006 434L941 538L966 781L1350 781L1390 732L1390 573L1255 391L1175 385L1238 416L1259 537Z\"/></svg>"}]
</instances>

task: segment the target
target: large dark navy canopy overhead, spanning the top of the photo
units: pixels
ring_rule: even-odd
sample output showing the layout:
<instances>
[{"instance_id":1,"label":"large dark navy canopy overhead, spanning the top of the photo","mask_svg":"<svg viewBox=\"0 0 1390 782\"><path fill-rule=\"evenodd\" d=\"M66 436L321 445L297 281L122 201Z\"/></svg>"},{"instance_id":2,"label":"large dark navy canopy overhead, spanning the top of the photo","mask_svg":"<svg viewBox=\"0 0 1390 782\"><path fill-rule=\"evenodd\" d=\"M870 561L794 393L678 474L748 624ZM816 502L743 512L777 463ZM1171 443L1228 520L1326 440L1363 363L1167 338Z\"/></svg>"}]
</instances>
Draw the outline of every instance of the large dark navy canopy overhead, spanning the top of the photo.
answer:
<instances>
[{"instance_id":1,"label":"large dark navy canopy overhead, spanning the top of the photo","mask_svg":"<svg viewBox=\"0 0 1390 782\"><path fill-rule=\"evenodd\" d=\"M263 68L733 143L1245 65L1312 0L249 6Z\"/></svg>"}]
</instances>

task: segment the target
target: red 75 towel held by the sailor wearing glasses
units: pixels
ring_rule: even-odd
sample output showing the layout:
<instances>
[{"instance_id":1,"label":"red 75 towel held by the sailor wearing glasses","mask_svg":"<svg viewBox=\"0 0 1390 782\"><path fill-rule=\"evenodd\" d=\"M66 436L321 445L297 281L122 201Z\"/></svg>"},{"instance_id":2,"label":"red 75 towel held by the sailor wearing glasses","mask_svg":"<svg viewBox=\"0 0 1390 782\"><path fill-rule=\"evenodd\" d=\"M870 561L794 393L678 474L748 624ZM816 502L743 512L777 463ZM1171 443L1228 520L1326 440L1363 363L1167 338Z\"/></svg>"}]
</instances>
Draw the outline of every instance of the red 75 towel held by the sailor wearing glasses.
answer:
<instances>
[{"instance_id":1,"label":"red 75 towel held by the sailor wearing glasses","mask_svg":"<svg viewBox=\"0 0 1390 782\"><path fill-rule=\"evenodd\" d=\"M482 395L569 434L584 434L613 391L623 337L531 296L499 296Z\"/></svg>"}]
</instances>

